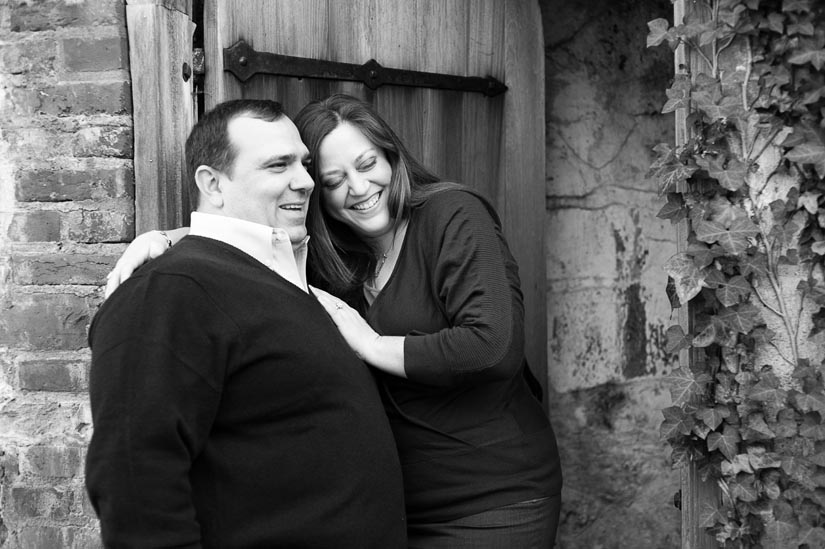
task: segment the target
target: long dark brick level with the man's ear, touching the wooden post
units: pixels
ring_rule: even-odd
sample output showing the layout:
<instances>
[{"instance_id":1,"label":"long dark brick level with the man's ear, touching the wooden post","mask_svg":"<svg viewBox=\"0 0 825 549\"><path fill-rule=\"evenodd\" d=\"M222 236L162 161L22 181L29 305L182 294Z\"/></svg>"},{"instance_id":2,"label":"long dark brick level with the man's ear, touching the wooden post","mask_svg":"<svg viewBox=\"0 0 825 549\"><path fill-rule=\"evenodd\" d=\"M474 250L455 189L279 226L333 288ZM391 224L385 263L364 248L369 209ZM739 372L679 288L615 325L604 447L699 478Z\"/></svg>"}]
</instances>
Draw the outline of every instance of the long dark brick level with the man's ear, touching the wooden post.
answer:
<instances>
[{"instance_id":1,"label":"long dark brick level with the man's ear, touching the wooden post","mask_svg":"<svg viewBox=\"0 0 825 549\"><path fill-rule=\"evenodd\" d=\"M125 167L24 169L17 172L15 177L15 197L19 202L62 202L127 196L134 196L134 173Z\"/></svg>"}]
</instances>

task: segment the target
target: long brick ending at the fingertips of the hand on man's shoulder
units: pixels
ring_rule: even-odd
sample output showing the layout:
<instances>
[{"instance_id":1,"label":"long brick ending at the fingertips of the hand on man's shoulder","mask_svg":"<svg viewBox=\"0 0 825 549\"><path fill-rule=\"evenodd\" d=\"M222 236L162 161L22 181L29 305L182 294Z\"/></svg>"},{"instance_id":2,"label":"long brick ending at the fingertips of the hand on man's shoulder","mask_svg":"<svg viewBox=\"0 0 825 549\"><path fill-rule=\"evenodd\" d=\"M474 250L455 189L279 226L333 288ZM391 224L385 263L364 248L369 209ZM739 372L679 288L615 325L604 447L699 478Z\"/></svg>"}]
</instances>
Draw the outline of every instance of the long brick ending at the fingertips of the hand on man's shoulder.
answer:
<instances>
[{"instance_id":1,"label":"long brick ending at the fingertips of the hand on man's shoulder","mask_svg":"<svg viewBox=\"0 0 825 549\"><path fill-rule=\"evenodd\" d=\"M41 254L12 258L12 280L23 285L80 284L99 286L105 283L118 256L99 254Z\"/></svg>"}]
</instances>

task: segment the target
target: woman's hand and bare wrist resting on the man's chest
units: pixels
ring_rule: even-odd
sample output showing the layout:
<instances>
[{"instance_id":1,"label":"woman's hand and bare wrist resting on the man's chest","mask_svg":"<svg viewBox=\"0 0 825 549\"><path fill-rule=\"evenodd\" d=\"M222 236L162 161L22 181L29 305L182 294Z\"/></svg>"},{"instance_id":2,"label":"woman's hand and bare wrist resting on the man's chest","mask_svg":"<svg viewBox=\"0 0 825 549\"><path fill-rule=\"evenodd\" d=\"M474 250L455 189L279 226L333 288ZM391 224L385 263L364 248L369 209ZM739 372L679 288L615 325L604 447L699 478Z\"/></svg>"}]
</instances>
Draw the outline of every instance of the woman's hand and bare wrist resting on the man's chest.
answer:
<instances>
[{"instance_id":1,"label":"woman's hand and bare wrist resting on the man's chest","mask_svg":"<svg viewBox=\"0 0 825 549\"><path fill-rule=\"evenodd\" d=\"M310 289L358 358L390 374L407 377L403 337L378 335L358 311L343 300L314 286Z\"/></svg>"}]
</instances>

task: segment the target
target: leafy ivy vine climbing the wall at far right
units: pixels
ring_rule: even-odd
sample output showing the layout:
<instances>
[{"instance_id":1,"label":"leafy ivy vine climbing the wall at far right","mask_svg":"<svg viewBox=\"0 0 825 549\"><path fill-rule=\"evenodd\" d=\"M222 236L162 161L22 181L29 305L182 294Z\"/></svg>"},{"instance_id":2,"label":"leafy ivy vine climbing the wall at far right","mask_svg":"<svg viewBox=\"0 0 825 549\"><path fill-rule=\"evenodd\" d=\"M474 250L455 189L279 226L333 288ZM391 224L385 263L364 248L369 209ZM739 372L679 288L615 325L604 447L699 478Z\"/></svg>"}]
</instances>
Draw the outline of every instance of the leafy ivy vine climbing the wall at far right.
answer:
<instances>
[{"instance_id":1,"label":"leafy ivy vine climbing the wall at far right","mask_svg":"<svg viewBox=\"0 0 825 549\"><path fill-rule=\"evenodd\" d=\"M674 376L662 436L675 466L721 488L700 516L725 547L825 547L825 2L694 0L649 47L684 46L663 113L687 138L660 144L660 218L687 227L665 265ZM817 339L818 338L818 339Z\"/></svg>"}]
</instances>

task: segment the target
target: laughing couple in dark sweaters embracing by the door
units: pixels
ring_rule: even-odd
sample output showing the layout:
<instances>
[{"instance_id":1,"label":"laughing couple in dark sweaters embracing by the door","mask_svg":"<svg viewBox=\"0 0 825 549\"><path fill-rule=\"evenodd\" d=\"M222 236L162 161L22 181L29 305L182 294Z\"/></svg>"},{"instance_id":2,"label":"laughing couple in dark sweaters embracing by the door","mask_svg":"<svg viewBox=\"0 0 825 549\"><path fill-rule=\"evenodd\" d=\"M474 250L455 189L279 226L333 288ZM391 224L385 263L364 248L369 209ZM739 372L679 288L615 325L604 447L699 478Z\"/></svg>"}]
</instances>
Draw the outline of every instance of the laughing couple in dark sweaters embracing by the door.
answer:
<instances>
[{"instance_id":1,"label":"laughing couple in dark sweaters embracing by the door","mask_svg":"<svg viewBox=\"0 0 825 549\"><path fill-rule=\"evenodd\" d=\"M294 124L222 103L186 160L188 236L138 237L90 329L104 542L551 547L558 453L487 202L341 95Z\"/></svg>"}]
</instances>

